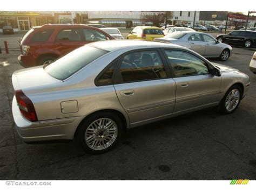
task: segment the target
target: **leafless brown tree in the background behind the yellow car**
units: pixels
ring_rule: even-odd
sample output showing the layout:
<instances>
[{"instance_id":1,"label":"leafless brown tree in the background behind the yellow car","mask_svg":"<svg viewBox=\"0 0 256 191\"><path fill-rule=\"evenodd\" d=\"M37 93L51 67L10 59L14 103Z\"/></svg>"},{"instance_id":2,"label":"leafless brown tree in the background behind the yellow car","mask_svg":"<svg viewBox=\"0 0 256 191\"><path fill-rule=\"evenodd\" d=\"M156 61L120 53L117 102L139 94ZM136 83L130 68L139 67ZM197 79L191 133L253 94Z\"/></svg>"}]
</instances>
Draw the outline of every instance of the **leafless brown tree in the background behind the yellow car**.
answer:
<instances>
[{"instance_id":1,"label":"leafless brown tree in the background behind the yellow car","mask_svg":"<svg viewBox=\"0 0 256 191\"><path fill-rule=\"evenodd\" d=\"M154 11L142 13L141 19L143 22L152 22L154 26L160 26L161 23L165 23L166 18L168 23L168 20L172 17L173 13L171 11Z\"/></svg>"}]
</instances>

